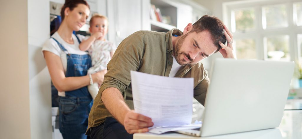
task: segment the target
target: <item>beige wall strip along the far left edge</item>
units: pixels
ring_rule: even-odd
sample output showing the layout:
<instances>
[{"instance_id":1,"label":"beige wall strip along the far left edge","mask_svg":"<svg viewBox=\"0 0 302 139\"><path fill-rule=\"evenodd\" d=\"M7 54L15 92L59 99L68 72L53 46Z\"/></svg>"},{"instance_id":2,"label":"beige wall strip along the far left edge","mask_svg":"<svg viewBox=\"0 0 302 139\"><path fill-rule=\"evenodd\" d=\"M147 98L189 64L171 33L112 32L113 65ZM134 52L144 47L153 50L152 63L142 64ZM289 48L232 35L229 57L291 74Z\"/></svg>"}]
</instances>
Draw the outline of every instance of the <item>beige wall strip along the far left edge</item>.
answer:
<instances>
[{"instance_id":1,"label":"beige wall strip along the far left edge","mask_svg":"<svg viewBox=\"0 0 302 139\"><path fill-rule=\"evenodd\" d=\"M27 1L0 6L0 138L31 138Z\"/></svg>"}]
</instances>

